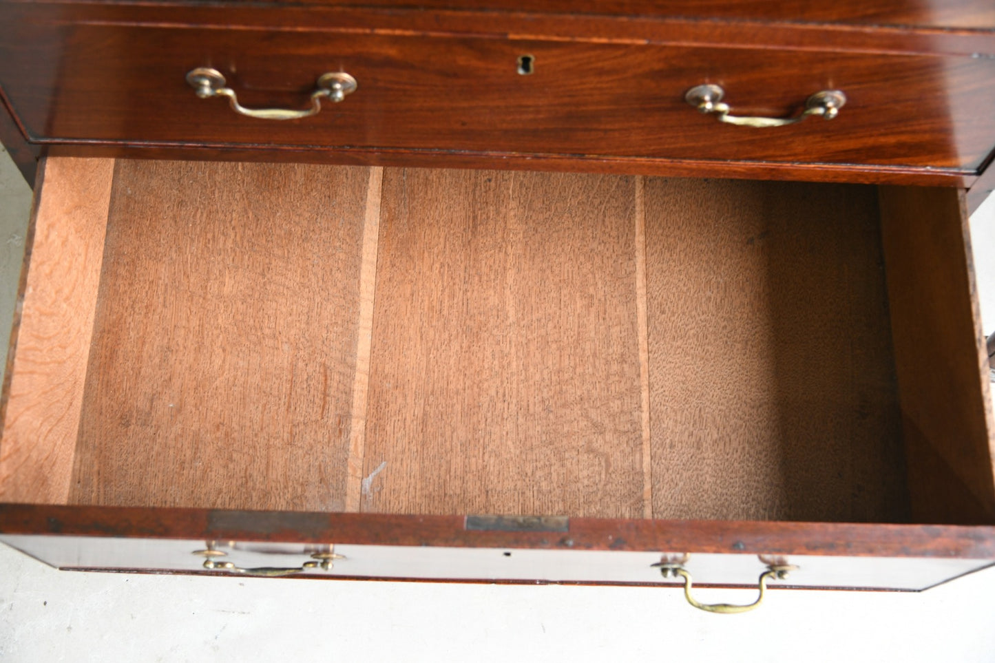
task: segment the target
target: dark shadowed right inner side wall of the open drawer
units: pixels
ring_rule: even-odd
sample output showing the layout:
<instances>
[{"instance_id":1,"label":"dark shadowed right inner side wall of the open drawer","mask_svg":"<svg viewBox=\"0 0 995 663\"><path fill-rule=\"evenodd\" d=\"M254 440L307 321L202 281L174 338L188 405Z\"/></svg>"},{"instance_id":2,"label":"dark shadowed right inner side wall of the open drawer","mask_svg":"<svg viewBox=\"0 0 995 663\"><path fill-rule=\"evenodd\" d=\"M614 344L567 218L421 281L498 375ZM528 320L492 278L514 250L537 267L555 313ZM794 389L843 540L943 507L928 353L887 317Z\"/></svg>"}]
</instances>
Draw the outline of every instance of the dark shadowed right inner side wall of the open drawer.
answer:
<instances>
[{"instance_id":1,"label":"dark shadowed right inner side wall of the open drawer","mask_svg":"<svg viewBox=\"0 0 995 663\"><path fill-rule=\"evenodd\" d=\"M883 187L913 516L995 523L995 418L962 192Z\"/></svg>"}]
</instances>

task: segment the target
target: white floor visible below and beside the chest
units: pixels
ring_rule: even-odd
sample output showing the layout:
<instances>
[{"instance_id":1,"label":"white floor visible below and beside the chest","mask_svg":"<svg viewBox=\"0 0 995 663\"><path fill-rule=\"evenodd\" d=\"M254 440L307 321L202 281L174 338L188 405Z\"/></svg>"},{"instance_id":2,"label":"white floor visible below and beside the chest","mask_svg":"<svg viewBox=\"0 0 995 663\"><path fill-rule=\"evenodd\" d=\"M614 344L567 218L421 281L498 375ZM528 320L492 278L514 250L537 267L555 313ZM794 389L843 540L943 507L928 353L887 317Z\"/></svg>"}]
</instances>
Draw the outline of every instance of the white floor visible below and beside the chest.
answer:
<instances>
[{"instance_id":1,"label":"white floor visible below and beside the chest","mask_svg":"<svg viewBox=\"0 0 995 663\"><path fill-rule=\"evenodd\" d=\"M0 155L0 329L30 191ZM995 200L972 220L995 330ZM5 343L4 343L5 346ZM701 590L703 600L750 592ZM678 590L58 571L0 545L0 661L995 661L995 568L923 593Z\"/></svg>"}]
</instances>

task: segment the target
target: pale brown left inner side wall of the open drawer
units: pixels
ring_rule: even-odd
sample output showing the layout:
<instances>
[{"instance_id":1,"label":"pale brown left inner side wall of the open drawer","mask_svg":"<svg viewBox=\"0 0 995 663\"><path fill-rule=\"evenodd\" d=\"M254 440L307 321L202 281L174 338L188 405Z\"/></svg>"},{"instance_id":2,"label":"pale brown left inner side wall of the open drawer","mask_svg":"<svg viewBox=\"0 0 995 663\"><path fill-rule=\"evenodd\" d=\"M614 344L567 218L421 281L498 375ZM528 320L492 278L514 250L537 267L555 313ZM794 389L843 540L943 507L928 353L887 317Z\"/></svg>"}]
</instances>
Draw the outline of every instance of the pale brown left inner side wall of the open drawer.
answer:
<instances>
[{"instance_id":1,"label":"pale brown left inner side wall of the open drawer","mask_svg":"<svg viewBox=\"0 0 995 663\"><path fill-rule=\"evenodd\" d=\"M113 161L49 159L26 242L0 439L0 500L69 497Z\"/></svg>"}]
</instances>

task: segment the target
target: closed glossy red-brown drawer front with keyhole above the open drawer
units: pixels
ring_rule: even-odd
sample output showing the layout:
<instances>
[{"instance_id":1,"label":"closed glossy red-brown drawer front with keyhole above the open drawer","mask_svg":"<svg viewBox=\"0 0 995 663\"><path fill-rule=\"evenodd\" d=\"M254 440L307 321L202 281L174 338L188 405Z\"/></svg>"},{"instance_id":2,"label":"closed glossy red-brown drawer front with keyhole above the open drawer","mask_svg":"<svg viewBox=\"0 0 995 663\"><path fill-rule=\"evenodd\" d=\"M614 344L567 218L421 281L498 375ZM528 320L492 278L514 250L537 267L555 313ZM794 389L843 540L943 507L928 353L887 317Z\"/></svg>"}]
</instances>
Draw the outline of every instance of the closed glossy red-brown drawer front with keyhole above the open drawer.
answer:
<instances>
[{"instance_id":1,"label":"closed glossy red-brown drawer front with keyhole above the open drawer","mask_svg":"<svg viewBox=\"0 0 995 663\"><path fill-rule=\"evenodd\" d=\"M9 10L5 10L9 11ZM36 139L737 160L971 175L995 145L995 61L331 31L32 24L0 28L0 80ZM534 72L518 74L518 58ZM358 90L317 116L237 115L186 84L219 70L249 108L305 108L316 78ZM721 124L685 93L721 85L737 114L788 116L843 90L839 117ZM418 152L410 152L417 154Z\"/></svg>"}]
</instances>

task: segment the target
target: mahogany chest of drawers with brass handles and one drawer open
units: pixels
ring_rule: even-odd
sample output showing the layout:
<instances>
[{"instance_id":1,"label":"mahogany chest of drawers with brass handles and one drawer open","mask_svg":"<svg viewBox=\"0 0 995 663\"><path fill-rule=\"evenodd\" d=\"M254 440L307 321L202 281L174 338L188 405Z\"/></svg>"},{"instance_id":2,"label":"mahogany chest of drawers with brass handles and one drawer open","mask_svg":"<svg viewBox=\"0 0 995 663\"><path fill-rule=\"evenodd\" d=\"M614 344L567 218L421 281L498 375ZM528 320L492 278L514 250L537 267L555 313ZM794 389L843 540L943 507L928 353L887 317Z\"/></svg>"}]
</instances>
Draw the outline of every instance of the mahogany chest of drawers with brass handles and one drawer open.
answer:
<instances>
[{"instance_id":1,"label":"mahogany chest of drawers with brass handles and one drawer open","mask_svg":"<svg viewBox=\"0 0 995 663\"><path fill-rule=\"evenodd\" d=\"M995 10L911 5L0 2L0 135L41 158L0 540L761 590L992 563Z\"/></svg>"}]
</instances>

